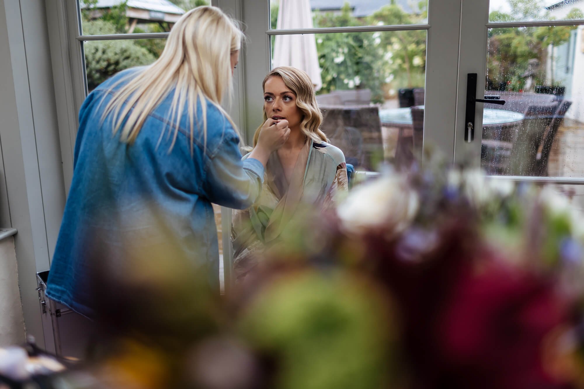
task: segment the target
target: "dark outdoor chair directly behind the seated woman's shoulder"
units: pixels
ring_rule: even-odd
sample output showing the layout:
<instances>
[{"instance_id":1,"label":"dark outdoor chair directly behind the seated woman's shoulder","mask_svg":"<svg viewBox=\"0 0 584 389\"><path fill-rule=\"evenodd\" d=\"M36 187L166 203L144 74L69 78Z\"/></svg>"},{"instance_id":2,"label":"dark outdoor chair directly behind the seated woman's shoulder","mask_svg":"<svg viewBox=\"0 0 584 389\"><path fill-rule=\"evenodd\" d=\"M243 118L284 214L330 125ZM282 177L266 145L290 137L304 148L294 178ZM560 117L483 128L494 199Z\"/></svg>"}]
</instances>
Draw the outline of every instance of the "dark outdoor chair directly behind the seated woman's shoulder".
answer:
<instances>
[{"instance_id":1,"label":"dark outdoor chair directly behind the seated woman's shoulder","mask_svg":"<svg viewBox=\"0 0 584 389\"><path fill-rule=\"evenodd\" d=\"M372 171L383 158L381 121L376 106L321 106L321 129L345 154L347 164Z\"/></svg>"}]
</instances>

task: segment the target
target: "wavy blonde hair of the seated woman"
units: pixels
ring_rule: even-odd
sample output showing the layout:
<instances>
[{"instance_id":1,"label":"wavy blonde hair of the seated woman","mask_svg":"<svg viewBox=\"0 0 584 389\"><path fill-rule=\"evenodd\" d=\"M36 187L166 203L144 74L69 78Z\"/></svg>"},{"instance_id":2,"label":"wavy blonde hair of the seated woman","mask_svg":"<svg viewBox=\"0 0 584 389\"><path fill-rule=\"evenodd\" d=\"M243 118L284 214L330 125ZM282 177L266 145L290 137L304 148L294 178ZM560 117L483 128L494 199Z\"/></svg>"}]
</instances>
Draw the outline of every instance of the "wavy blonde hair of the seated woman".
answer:
<instances>
[{"instance_id":1,"label":"wavy blonde hair of the seated woman","mask_svg":"<svg viewBox=\"0 0 584 389\"><path fill-rule=\"evenodd\" d=\"M302 122L300 123L300 130L308 139L311 138L317 143L328 142L328 138L321 130L322 113L318 108L316 93L314 92L314 85L312 80L308 77L306 72L289 67L281 66L274 68L266 75L262 82L262 90L265 91L266 81L270 77L280 77L284 81L286 88L290 89L294 96L296 96L296 106L300 108L303 114ZM267 120L266 111L263 111L263 123ZM263 126L262 123L262 126ZM259 133L262 126L253 134L253 147L258 144Z\"/></svg>"}]
</instances>

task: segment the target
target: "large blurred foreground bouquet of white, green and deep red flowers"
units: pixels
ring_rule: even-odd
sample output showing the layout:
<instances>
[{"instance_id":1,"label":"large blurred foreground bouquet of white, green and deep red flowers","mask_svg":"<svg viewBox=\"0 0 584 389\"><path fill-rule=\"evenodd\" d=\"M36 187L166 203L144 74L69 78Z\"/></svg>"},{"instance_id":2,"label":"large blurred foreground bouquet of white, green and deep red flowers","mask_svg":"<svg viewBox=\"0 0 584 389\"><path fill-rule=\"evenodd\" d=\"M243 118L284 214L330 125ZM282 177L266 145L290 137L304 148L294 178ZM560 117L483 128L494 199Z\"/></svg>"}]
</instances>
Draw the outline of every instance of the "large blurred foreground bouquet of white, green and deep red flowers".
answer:
<instances>
[{"instance_id":1,"label":"large blurred foreground bouquet of white, green and deep red flowers","mask_svg":"<svg viewBox=\"0 0 584 389\"><path fill-rule=\"evenodd\" d=\"M584 217L553 187L390 173L316 219L242 287L273 387L584 387Z\"/></svg>"}]
</instances>

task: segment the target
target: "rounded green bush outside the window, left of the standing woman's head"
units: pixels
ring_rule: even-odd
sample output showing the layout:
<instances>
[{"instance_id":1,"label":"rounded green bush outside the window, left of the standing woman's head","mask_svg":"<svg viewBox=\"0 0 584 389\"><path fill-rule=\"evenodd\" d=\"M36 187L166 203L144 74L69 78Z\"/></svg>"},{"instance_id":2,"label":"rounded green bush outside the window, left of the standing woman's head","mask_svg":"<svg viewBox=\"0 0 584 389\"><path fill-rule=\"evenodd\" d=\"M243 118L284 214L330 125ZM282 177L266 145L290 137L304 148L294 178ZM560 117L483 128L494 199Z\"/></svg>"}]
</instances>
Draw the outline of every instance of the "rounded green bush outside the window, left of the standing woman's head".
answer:
<instances>
[{"instance_id":1,"label":"rounded green bush outside the window, left of the standing woman's head","mask_svg":"<svg viewBox=\"0 0 584 389\"><path fill-rule=\"evenodd\" d=\"M113 34L116 27L105 20L92 20L85 25L85 33ZM91 91L117 72L134 66L148 65L156 57L134 40L103 40L85 43L87 86Z\"/></svg>"}]
</instances>

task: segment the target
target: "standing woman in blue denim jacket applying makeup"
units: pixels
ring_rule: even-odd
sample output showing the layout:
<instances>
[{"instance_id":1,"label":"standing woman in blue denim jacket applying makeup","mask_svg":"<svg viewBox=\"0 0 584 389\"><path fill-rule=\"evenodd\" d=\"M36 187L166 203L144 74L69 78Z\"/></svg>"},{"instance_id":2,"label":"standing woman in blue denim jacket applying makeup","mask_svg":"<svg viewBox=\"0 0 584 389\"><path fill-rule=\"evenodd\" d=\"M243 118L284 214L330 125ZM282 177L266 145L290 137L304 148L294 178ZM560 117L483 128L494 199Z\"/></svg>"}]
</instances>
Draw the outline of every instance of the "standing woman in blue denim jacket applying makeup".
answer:
<instances>
[{"instance_id":1,"label":"standing woman in blue denim jacket applying makeup","mask_svg":"<svg viewBox=\"0 0 584 389\"><path fill-rule=\"evenodd\" d=\"M194 8L173 26L157 61L114 75L85 99L48 297L91 318L92 270L107 259L112 275L132 272L124 268L128 255L161 246L218 293L211 203L251 206L270 154L290 133L285 123L266 126L242 161L239 135L221 108L241 41L220 9Z\"/></svg>"}]
</instances>

